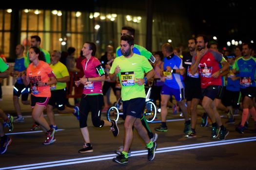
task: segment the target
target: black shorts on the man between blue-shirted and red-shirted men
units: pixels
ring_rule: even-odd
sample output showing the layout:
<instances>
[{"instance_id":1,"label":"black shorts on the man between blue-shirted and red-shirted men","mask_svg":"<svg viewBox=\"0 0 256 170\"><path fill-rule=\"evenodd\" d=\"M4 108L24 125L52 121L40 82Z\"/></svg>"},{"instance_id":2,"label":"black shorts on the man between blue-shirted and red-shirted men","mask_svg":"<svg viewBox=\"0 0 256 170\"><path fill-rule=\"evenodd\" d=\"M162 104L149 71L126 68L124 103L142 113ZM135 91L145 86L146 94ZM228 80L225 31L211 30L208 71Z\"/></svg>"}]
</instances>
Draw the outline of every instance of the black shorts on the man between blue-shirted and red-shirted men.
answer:
<instances>
[{"instance_id":1,"label":"black shorts on the man between blue-shirted and red-shirted men","mask_svg":"<svg viewBox=\"0 0 256 170\"><path fill-rule=\"evenodd\" d=\"M185 84L185 98L187 101L192 101L192 99L201 99L201 85L196 82L187 82Z\"/></svg>"}]
</instances>

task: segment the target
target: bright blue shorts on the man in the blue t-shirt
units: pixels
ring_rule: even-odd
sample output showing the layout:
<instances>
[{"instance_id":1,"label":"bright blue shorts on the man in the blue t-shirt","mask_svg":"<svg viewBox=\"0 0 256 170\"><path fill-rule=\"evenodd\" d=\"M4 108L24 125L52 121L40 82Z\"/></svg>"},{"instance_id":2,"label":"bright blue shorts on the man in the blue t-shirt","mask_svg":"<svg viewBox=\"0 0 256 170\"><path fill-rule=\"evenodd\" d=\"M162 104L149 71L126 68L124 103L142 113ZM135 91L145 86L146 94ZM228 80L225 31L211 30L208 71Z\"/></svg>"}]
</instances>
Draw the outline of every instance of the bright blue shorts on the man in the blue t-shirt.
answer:
<instances>
[{"instance_id":1,"label":"bright blue shorts on the man in the blue t-shirt","mask_svg":"<svg viewBox=\"0 0 256 170\"><path fill-rule=\"evenodd\" d=\"M184 88L175 89L175 88L169 87L168 85L163 85L162 90L161 90L161 94L174 96L175 100L177 102L183 101L185 99Z\"/></svg>"}]
</instances>

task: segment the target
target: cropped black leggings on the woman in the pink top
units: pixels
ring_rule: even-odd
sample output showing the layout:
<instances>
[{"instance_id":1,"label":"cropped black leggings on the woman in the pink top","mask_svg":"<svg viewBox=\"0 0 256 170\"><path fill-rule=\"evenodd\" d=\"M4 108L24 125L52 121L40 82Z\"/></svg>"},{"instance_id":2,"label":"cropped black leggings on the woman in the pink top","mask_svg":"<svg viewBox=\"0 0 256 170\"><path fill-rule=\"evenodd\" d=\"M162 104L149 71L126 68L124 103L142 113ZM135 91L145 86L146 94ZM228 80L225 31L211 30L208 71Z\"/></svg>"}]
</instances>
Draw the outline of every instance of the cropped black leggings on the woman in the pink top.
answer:
<instances>
[{"instance_id":1,"label":"cropped black leggings on the woman in the pink top","mask_svg":"<svg viewBox=\"0 0 256 170\"><path fill-rule=\"evenodd\" d=\"M82 95L79 105L80 128L87 127L89 111L92 112L92 122L95 127L103 127L104 121L100 120L103 95Z\"/></svg>"}]
</instances>

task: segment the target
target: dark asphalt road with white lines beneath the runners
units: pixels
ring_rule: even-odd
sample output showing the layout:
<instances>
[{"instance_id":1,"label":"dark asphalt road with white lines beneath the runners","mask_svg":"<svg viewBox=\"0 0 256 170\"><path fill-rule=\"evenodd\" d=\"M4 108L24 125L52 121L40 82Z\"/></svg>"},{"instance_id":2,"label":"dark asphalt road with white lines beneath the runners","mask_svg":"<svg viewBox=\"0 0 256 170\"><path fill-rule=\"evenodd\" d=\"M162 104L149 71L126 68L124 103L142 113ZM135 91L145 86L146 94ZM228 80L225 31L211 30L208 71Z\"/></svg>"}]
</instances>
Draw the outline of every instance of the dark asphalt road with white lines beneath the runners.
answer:
<instances>
[{"instance_id":1,"label":"dark asphalt road with white lines beneath the runners","mask_svg":"<svg viewBox=\"0 0 256 170\"><path fill-rule=\"evenodd\" d=\"M0 108L12 113L11 105L0 102ZM22 106L23 107L23 106ZM170 109L171 110L171 109ZM14 111L13 111L14 112ZM202 110L199 108L199 114ZM93 153L78 153L83 139L79 131L79 122L72 114L56 115L56 122L61 129L55 136L57 141L44 146L45 135L42 132L30 132L33 124L28 107L23 108L26 116L22 123L15 123L15 129L9 136L13 142L6 153L0 155L0 170L255 170L256 133L254 121L249 122L249 129L244 135L235 131L235 125L226 125L230 134L226 140L210 139L211 128L200 127L197 122L197 137L185 138L182 133L184 120L179 115L168 115L168 132L158 132L156 157L147 160L145 145L134 132L131 147L132 156L128 165L119 165L112 161L114 151L122 145L123 123L118 123L120 133L112 135L109 128L95 128L88 119ZM159 115L158 115L158 118ZM105 119L105 114L102 114ZM227 119L223 118L225 122ZM236 124L240 115L236 116ZM154 128L159 123L150 123ZM7 129L6 133L7 132Z\"/></svg>"}]
</instances>

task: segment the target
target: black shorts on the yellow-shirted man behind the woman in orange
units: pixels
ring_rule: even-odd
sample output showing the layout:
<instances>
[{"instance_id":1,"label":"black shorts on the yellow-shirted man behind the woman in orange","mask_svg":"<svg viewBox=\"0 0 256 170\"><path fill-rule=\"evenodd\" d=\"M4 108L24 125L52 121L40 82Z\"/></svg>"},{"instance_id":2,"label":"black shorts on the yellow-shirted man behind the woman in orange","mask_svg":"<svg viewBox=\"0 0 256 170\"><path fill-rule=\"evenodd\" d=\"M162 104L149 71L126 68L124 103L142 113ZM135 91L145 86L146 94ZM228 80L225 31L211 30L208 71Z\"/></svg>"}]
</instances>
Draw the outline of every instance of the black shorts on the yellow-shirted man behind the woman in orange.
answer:
<instances>
[{"instance_id":1,"label":"black shorts on the yellow-shirted man behind the woman in orange","mask_svg":"<svg viewBox=\"0 0 256 170\"><path fill-rule=\"evenodd\" d=\"M49 105L56 106L58 110L64 110L65 102L66 102L65 89L51 91L51 97L48 102Z\"/></svg>"}]
</instances>

